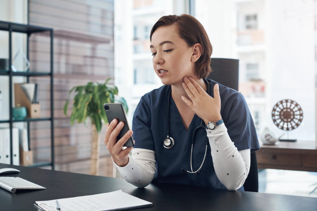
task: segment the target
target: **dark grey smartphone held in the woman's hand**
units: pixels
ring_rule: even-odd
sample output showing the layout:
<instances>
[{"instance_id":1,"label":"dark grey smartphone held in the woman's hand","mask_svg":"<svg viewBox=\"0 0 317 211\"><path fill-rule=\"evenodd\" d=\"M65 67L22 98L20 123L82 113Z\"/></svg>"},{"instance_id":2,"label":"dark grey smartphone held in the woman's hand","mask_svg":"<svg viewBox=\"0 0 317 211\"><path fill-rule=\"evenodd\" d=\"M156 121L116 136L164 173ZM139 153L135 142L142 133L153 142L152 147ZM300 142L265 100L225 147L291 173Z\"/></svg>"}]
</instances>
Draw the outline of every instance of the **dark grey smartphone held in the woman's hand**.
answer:
<instances>
[{"instance_id":1,"label":"dark grey smartphone held in the woman's hand","mask_svg":"<svg viewBox=\"0 0 317 211\"><path fill-rule=\"evenodd\" d=\"M121 103L105 103L103 104L103 107L105 108L106 116L109 123L113 119L117 119L118 123L120 121L124 122L124 126L117 137L117 141L118 141L119 139L122 138L124 134L126 134L128 130L130 130L128 121L126 119L126 112L123 108L123 105ZM126 143L123 146L129 146L129 147L134 146L132 136L129 138L129 140L126 141Z\"/></svg>"}]
</instances>

